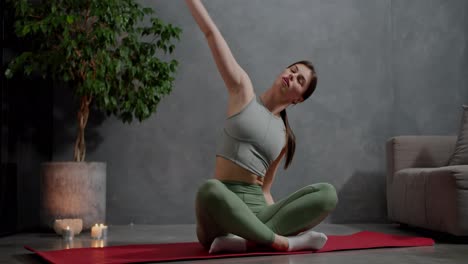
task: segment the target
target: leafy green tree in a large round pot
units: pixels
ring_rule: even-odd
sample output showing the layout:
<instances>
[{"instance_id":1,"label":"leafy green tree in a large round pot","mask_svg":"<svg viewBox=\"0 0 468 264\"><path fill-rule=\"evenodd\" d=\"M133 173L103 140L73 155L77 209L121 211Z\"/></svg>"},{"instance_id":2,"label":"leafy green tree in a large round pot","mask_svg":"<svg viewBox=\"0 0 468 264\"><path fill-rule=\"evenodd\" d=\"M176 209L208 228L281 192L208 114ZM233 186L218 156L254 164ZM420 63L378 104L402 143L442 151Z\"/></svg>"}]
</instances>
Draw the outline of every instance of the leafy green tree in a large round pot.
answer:
<instances>
[{"instance_id":1,"label":"leafy green tree in a large round pot","mask_svg":"<svg viewBox=\"0 0 468 264\"><path fill-rule=\"evenodd\" d=\"M7 78L41 74L73 89L79 99L73 161L48 162L41 168L41 224L81 218L89 229L105 221L106 193L106 164L85 161L90 106L128 123L156 112L173 86L178 62L169 54L181 29L135 0L9 4L15 12L15 32L31 41L31 49L10 62Z\"/></svg>"}]
</instances>

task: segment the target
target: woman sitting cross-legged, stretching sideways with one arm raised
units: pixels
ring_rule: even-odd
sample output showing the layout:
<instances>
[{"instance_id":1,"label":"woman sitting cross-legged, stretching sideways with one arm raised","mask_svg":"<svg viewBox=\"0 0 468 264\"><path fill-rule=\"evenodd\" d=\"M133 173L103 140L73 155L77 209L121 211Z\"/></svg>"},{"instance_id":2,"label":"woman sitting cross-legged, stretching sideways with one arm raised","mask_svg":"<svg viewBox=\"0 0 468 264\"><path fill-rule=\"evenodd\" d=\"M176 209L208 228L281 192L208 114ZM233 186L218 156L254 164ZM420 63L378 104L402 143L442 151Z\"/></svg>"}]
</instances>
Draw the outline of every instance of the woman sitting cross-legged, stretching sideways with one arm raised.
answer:
<instances>
[{"instance_id":1,"label":"woman sitting cross-legged, stretching sideways with one arm raised","mask_svg":"<svg viewBox=\"0 0 468 264\"><path fill-rule=\"evenodd\" d=\"M335 208L333 186L309 185L277 203L270 193L281 159L286 159L286 169L295 150L286 108L315 90L314 67L307 61L292 64L257 96L202 2L186 3L205 34L229 94L215 177L197 193L198 240L210 253L243 252L255 245L278 251L321 248L326 235L310 228Z\"/></svg>"}]
</instances>

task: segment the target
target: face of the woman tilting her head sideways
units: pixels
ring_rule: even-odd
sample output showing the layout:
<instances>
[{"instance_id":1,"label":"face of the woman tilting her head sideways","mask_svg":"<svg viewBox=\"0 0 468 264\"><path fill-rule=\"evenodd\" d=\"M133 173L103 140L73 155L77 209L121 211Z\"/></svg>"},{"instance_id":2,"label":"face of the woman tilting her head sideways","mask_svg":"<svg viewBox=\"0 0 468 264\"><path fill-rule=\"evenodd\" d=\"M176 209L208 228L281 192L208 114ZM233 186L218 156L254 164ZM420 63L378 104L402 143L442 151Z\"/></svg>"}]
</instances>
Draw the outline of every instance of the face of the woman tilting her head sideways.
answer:
<instances>
[{"instance_id":1,"label":"face of the woman tilting her head sideways","mask_svg":"<svg viewBox=\"0 0 468 264\"><path fill-rule=\"evenodd\" d=\"M297 104L312 80L312 71L303 64L286 68L275 80L277 90L287 101Z\"/></svg>"}]
</instances>

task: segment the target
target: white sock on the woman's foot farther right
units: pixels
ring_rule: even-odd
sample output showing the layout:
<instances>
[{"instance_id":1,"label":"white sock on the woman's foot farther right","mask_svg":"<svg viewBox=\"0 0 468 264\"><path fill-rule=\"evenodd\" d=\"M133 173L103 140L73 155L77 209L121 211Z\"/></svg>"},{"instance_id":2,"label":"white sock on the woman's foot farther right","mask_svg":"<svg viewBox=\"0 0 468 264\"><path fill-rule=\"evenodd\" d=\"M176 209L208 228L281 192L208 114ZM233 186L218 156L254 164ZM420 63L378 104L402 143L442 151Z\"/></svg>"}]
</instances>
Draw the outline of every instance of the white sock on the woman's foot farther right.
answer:
<instances>
[{"instance_id":1,"label":"white sock on the woman's foot farther right","mask_svg":"<svg viewBox=\"0 0 468 264\"><path fill-rule=\"evenodd\" d=\"M305 231L297 236L287 237L289 242L288 251L318 250L321 249L328 237L324 233L312 230Z\"/></svg>"}]
</instances>

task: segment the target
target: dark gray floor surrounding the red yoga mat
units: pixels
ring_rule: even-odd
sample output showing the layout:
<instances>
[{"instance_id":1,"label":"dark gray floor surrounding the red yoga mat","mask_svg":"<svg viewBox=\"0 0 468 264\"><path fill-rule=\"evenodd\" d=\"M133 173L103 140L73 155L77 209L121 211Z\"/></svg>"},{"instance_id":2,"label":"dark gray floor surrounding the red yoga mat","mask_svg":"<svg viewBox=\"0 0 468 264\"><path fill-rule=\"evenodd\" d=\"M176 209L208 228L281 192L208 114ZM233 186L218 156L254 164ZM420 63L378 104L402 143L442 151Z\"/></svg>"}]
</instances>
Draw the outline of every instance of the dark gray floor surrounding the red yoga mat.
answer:
<instances>
[{"instance_id":1,"label":"dark gray floor surrounding the red yoga mat","mask_svg":"<svg viewBox=\"0 0 468 264\"><path fill-rule=\"evenodd\" d=\"M225 258L214 260L181 261L171 263L468 263L468 238L454 238L433 234L423 230L402 228L389 224L321 224L317 231L330 235L351 234L362 230L379 231L389 234L432 236L436 244L433 247L382 248L328 252L307 255L261 256L243 258ZM193 225L127 225L109 226L105 245L125 245L138 243L167 243L196 241ZM90 233L83 232L76 236L71 247L93 246ZM55 233L20 233L0 238L0 263L45 263L36 255L23 248L24 245L38 250L62 249L67 245ZM99 246L99 245L98 245Z\"/></svg>"}]
</instances>

